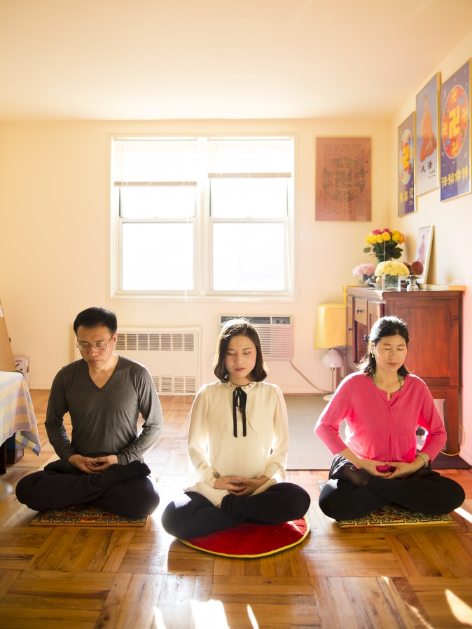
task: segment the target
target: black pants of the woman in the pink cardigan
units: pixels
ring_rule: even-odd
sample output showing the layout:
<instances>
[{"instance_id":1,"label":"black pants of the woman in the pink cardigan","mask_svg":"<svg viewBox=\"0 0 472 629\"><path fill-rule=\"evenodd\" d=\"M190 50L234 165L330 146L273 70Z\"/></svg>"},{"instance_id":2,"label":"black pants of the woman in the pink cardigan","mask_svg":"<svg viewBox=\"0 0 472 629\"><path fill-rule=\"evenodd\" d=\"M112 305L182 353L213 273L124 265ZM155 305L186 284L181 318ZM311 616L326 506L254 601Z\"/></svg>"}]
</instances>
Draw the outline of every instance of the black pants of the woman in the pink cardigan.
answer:
<instances>
[{"instance_id":1,"label":"black pants of the woman in the pink cardigan","mask_svg":"<svg viewBox=\"0 0 472 629\"><path fill-rule=\"evenodd\" d=\"M461 506L465 498L458 482L429 467L399 479L372 476L365 488L356 487L348 480L331 478L321 489L319 507L334 520L362 518L391 504L432 515L450 513Z\"/></svg>"}]
</instances>

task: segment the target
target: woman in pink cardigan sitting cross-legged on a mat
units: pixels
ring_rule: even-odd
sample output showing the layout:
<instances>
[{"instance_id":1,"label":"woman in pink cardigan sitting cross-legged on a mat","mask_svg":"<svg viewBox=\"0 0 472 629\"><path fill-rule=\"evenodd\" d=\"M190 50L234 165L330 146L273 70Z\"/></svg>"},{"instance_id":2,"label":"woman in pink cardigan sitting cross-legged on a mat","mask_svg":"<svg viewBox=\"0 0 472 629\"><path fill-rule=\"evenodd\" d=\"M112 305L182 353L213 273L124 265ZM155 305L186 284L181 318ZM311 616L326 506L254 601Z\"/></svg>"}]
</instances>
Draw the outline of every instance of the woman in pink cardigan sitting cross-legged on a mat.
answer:
<instances>
[{"instance_id":1,"label":"woman in pink cardigan sitting cross-legged on a mat","mask_svg":"<svg viewBox=\"0 0 472 629\"><path fill-rule=\"evenodd\" d=\"M465 499L457 482L431 470L446 431L426 384L405 368L408 341L404 321L378 319L359 372L341 382L314 428L335 454L319 496L321 510L335 520L361 518L391 504L448 513ZM427 434L420 452L418 426Z\"/></svg>"}]
</instances>

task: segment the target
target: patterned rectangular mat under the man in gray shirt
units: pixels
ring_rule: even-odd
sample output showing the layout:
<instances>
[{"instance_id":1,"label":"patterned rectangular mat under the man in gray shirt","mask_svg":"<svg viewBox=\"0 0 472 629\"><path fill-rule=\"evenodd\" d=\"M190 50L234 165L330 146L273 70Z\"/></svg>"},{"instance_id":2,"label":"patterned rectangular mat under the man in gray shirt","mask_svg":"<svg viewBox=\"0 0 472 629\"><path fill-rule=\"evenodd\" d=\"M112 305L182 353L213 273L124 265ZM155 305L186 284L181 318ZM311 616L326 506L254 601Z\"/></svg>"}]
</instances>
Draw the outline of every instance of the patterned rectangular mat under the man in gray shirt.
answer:
<instances>
[{"instance_id":1,"label":"patterned rectangular mat under the man in gray shirt","mask_svg":"<svg viewBox=\"0 0 472 629\"><path fill-rule=\"evenodd\" d=\"M109 513L93 503L69 505L59 509L40 511L29 522L41 527L142 527L148 518L124 518Z\"/></svg>"}]
</instances>

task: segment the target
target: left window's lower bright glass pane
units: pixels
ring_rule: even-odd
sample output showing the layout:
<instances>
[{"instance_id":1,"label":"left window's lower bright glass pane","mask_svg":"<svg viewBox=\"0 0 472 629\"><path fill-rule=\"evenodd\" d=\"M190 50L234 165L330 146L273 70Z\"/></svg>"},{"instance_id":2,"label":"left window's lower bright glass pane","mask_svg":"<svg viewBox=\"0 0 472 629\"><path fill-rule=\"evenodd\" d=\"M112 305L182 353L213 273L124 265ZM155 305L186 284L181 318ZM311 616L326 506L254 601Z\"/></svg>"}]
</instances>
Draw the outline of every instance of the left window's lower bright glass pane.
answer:
<instances>
[{"instance_id":1,"label":"left window's lower bright glass pane","mask_svg":"<svg viewBox=\"0 0 472 629\"><path fill-rule=\"evenodd\" d=\"M124 223L123 290L193 290L193 224Z\"/></svg>"}]
</instances>

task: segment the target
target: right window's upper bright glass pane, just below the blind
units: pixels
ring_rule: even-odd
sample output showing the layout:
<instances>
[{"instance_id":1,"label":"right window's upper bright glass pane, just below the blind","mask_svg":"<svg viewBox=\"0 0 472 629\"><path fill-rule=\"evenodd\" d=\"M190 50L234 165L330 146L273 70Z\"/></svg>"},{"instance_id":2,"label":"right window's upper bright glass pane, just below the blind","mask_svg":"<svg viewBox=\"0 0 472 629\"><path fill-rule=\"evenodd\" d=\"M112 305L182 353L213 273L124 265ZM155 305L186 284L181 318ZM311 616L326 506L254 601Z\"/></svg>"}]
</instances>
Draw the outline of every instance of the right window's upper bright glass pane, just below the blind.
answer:
<instances>
[{"instance_id":1,"label":"right window's upper bright glass pane, just below the blind","mask_svg":"<svg viewBox=\"0 0 472 629\"><path fill-rule=\"evenodd\" d=\"M286 217L286 178L231 177L210 181L211 216L223 218Z\"/></svg>"}]
</instances>

